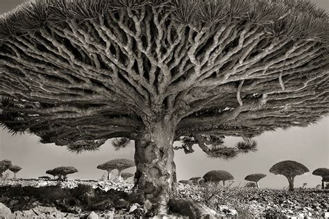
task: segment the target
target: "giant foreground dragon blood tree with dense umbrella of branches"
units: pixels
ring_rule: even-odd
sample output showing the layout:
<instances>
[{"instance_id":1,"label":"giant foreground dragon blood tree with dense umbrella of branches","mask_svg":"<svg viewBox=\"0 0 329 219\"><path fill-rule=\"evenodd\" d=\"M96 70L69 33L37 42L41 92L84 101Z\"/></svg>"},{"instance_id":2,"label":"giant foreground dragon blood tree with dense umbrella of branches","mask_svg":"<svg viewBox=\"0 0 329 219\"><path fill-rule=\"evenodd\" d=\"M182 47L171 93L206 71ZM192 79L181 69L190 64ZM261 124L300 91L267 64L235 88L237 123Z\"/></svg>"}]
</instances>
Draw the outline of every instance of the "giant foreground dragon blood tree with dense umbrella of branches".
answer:
<instances>
[{"instance_id":1,"label":"giant foreground dragon blood tree with dense umbrella of branches","mask_svg":"<svg viewBox=\"0 0 329 219\"><path fill-rule=\"evenodd\" d=\"M135 194L165 213L175 140L234 157L328 112L328 21L305 0L29 1L0 21L0 121L71 150L134 140Z\"/></svg>"}]
</instances>

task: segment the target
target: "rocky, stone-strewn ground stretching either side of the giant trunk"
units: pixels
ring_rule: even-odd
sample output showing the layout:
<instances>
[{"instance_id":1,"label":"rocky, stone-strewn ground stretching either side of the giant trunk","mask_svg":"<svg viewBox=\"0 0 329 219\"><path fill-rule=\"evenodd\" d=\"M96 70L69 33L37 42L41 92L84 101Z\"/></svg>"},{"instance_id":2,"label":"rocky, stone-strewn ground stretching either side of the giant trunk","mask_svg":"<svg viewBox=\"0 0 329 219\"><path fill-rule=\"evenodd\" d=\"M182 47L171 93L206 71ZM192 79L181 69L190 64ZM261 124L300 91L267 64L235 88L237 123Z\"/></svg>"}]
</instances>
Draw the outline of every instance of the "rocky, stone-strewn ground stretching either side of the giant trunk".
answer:
<instances>
[{"instance_id":1,"label":"rocky, stone-strewn ground stretching either side of the giant trunk","mask_svg":"<svg viewBox=\"0 0 329 219\"><path fill-rule=\"evenodd\" d=\"M0 218L138 218L144 209L127 201L132 186L117 179L5 180L0 182ZM329 191L319 189L289 192L180 184L176 198L196 200L228 218L329 218Z\"/></svg>"}]
</instances>

